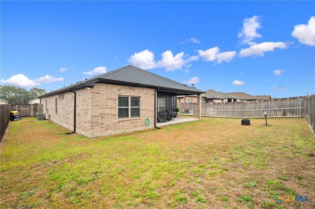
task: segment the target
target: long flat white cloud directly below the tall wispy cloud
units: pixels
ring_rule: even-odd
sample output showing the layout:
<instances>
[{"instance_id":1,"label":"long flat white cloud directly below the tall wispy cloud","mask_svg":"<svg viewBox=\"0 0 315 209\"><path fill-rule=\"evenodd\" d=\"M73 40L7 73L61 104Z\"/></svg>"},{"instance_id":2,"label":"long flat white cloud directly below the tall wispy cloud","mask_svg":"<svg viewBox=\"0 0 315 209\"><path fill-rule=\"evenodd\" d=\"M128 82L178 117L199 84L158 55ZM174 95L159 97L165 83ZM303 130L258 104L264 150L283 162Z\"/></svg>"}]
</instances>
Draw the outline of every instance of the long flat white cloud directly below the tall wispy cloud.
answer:
<instances>
[{"instance_id":1,"label":"long flat white cloud directly below the tall wispy cloud","mask_svg":"<svg viewBox=\"0 0 315 209\"><path fill-rule=\"evenodd\" d=\"M252 45L250 48L242 49L239 53L240 57L251 55L263 56L264 52L273 52L276 48L285 49L287 44L284 42L263 42Z\"/></svg>"}]
</instances>

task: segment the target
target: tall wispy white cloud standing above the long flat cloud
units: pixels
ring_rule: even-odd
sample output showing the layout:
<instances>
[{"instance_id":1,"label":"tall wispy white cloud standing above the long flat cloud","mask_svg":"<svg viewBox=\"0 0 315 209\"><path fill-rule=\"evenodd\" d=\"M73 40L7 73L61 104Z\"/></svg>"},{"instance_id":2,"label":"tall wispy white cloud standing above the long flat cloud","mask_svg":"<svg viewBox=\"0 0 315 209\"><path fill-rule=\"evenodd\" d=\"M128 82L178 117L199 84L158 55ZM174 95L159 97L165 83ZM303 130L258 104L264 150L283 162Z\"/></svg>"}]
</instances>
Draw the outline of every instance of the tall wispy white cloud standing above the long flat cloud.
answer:
<instances>
[{"instance_id":1,"label":"tall wispy white cloud standing above the long flat cloud","mask_svg":"<svg viewBox=\"0 0 315 209\"><path fill-rule=\"evenodd\" d=\"M254 45L256 44L252 40L255 38L260 38L261 35L256 32L260 26L259 16L253 16L252 18L245 18L243 20L242 31L238 33L238 37L241 38L242 44Z\"/></svg>"}]
</instances>

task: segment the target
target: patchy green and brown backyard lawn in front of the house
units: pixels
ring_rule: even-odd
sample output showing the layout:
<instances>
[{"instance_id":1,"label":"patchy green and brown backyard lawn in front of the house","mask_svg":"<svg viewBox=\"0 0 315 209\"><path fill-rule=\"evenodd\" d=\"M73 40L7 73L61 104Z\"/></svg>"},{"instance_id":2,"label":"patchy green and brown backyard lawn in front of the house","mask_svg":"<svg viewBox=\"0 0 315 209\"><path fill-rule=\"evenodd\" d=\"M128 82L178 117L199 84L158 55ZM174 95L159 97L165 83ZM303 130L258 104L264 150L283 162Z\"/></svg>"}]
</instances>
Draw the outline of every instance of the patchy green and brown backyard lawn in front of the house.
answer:
<instances>
[{"instance_id":1,"label":"patchy green and brown backyard lawn in front of the house","mask_svg":"<svg viewBox=\"0 0 315 209\"><path fill-rule=\"evenodd\" d=\"M315 208L315 137L304 118L202 118L89 139L11 122L1 208ZM275 195L308 195L281 202Z\"/></svg>"}]
</instances>

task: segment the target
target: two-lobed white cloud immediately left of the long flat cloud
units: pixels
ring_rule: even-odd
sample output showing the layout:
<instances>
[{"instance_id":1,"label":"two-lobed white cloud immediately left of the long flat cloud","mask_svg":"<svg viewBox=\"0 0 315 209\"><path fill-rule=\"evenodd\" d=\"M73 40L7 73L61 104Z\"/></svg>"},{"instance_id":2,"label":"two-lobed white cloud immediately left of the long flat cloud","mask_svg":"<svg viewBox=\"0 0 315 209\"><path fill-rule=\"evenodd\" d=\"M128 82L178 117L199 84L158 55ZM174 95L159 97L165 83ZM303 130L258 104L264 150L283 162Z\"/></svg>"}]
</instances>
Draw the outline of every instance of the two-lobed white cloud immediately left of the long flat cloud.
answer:
<instances>
[{"instance_id":1,"label":"two-lobed white cloud immediately left of the long flat cloud","mask_svg":"<svg viewBox=\"0 0 315 209\"><path fill-rule=\"evenodd\" d=\"M217 60L218 63L223 61L229 62L236 55L235 51L220 52L219 47L210 48L206 51L197 50L197 52L204 61L212 62Z\"/></svg>"}]
</instances>

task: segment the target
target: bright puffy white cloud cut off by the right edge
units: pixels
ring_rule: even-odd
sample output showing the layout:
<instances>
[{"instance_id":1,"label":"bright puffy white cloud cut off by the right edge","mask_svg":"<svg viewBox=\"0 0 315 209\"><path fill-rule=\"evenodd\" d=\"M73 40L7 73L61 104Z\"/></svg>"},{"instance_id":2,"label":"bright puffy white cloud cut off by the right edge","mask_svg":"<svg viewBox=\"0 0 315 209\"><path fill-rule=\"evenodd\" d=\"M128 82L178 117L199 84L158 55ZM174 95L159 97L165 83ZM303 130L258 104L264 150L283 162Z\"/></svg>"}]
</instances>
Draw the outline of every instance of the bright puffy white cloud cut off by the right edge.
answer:
<instances>
[{"instance_id":1,"label":"bright puffy white cloud cut off by the right edge","mask_svg":"<svg viewBox=\"0 0 315 209\"><path fill-rule=\"evenodd\" d=\"M297 38L301 44L315 46L315 16L310 18L308 25L294 26L292 36Z\"/></svg>"}]
</instances>

